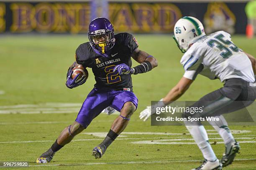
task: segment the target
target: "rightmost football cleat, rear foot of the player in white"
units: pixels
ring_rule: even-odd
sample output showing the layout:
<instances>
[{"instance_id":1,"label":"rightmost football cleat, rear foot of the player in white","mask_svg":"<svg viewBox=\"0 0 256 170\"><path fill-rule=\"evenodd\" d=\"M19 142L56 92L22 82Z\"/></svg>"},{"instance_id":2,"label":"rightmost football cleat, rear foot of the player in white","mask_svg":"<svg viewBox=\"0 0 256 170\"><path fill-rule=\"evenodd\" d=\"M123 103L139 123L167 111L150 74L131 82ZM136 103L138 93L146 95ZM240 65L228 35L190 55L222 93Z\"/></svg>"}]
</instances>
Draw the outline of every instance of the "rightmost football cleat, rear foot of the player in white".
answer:
<instances>
[{"instance_id":1,"label":"rightmost football cleat, rear foot of the player in white","mask_svg":"<svg viewBox=\"0 0 256 170\"><path fill-rule=\"evenodd\" d=\"M236 153L238 153L240 148L241 147L239 143L236 142L236 140L226 145L225 153L223 154L223 157L221 159L221 163L223 164L223 167L226 167L233 162L236 156Z\"/></svg>"}]
</instances>

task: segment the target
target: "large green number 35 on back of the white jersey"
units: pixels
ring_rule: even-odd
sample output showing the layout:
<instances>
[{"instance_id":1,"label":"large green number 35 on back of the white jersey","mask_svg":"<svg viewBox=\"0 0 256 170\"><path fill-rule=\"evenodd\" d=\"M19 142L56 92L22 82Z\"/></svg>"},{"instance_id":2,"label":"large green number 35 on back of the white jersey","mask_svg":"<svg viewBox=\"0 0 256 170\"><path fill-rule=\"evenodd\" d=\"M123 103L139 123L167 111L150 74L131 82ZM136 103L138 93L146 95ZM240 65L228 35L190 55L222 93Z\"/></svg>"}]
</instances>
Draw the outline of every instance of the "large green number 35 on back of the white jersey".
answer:
<instances>
[{"instance_id":1,"label":"large green number 35 on back of the white jersey","mask_svg":"<svg viewBox=\"0 0 256 170\"><path fill-rule=\"evenodd\" d=\"M233 52L238 52L239 49L236 45L234 45L230 40L223 40L223 37L224 35L223 34L219 34L217 36L215 36L215 38L217 40L214 40L214 39L210 39L207 44L210 46L210 47L213 47L214 44L217 45L216 47L223 51L224 52L221 52L220 55L223 57L223 58L228 58L232 55L232 52L230 51L230 49L233 51ZM228 46L228 47L227 47Z\"/></svg>"}]
</instances>

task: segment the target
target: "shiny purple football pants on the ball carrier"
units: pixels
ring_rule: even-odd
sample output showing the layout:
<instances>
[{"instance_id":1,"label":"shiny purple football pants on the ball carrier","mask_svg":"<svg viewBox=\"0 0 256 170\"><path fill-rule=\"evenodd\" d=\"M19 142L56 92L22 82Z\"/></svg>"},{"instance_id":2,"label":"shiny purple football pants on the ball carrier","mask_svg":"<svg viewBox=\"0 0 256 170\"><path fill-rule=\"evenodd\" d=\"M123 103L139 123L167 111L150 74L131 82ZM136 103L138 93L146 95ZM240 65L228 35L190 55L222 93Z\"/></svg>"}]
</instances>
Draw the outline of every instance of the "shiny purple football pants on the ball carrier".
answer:
<instances>
[{"instance_id":1,"label":"shiny purple football pants on the ball carrier","mask_svg":"<svg viewBox=\"0 0 256 170\"><path fill-rule=\"evenodd\" d=\"M120 112L125 102L133 102L136 108L138 106L138 99L133 92L94 88L84 100L75 121L87 128L103 109L110 106Z\"/></svg>"}]
</instances>

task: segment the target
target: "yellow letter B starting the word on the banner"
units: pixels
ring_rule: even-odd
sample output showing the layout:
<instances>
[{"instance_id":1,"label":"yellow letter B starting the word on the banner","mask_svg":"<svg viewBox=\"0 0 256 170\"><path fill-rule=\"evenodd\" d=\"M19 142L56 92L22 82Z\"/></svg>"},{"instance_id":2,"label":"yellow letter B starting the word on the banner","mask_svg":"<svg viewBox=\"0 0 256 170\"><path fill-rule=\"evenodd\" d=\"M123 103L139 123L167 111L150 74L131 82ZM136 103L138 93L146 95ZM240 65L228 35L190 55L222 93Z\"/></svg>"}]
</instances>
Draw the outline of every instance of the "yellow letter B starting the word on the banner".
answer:
<instances>
[{"instance_id":1,"label":"yellow letter B starting the word on the banner","mask_svg":"<svg viewBox=\"0 0 256 170\"><path fill-rule=\"evenodd\" d=\"M13 12L12 32L30 32L36 27L35 9L29 3L12 3L10 9Z\"/></svg>"}]
</instances>

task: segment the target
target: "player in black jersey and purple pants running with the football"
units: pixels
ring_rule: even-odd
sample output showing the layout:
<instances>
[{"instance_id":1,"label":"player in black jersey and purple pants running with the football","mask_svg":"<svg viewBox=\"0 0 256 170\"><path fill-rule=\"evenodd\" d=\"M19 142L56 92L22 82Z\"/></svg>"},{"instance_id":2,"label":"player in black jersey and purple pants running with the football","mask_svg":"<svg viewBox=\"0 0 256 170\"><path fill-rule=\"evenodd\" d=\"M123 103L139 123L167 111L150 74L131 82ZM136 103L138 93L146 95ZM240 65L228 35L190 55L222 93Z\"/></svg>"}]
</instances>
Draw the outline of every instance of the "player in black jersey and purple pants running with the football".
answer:
<instances>
[{"instance_id":1,"label":"player in black jersey and purple pants running with the football","mask_svg":"<svg viewBox=\"0 0 256 170\"><path fill-rule=\"evenodd\" d=\"M85 77L76 81L78 75L72 80L72 69L77 65L92 68L96 84L84 100L74 123L64 128L55 143L36 163L49 163L54 154L87 128L102 110L113 107L120 115L112 123L106 138L92 150L95 158L101 158L125 129L137 108L138 99L133 93L131 75L148 72L157 66L157 60L152 55L138 49L138 42L133 35L114 35L113 25L106 18L92 20L88 35L90 42L79 45L76 50L76 61L69 67L66 85L74 88L86 81ZM140 65L131 67L131 57Z\"/></svg>"}]
</instances>

